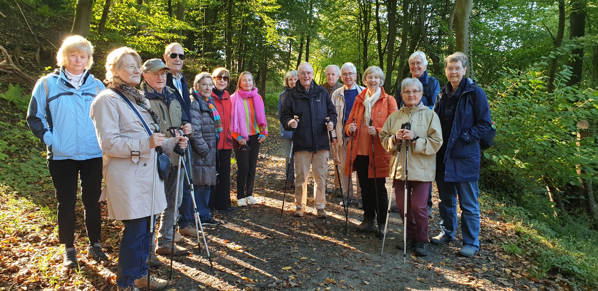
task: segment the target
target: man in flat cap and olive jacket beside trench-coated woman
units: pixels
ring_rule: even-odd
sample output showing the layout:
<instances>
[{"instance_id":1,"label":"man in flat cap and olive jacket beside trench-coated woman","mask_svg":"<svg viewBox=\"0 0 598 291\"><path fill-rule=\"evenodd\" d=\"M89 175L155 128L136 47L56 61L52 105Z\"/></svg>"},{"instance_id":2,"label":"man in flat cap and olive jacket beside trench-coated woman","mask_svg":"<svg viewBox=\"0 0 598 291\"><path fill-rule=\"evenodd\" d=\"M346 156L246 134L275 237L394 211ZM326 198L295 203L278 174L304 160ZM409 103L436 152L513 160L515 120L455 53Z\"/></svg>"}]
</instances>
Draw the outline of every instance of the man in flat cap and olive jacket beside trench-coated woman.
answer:
<instances>
[{"instance_id":1,"label":"man in flat cap and olive jacket beside trench-coated woman","mask_svg":"<svg viewBox=\"0 0 598 291\"><path fill-rule=\"evenodd\" d=\"M166 86L166 70L169 69L161 59L150 59L143 66L144 81L141 83L141 89L149 99L149 104L154 112L160 118L160 132L166 137L175 137L170 128L180 128L183 132L191 133L191 123L182 110L181 102L175 90ZM175 167L179 165L177 154L170 154L170 162ZM166 190L166 210L161 214L160 229L158 230L158 244L155 253L167 255L170 254L170 246L173 244L172 228L175 219L175 210L182 202L184 169L179 177L179 189L176 189L176 171L170 172L164 189ZM177 191L178 190L178 194ZM179 234L175 234L175 242L184 242ZM182 256L187 254L187 248L175 245L173 254Z\"/></svg>"}]
</instances>

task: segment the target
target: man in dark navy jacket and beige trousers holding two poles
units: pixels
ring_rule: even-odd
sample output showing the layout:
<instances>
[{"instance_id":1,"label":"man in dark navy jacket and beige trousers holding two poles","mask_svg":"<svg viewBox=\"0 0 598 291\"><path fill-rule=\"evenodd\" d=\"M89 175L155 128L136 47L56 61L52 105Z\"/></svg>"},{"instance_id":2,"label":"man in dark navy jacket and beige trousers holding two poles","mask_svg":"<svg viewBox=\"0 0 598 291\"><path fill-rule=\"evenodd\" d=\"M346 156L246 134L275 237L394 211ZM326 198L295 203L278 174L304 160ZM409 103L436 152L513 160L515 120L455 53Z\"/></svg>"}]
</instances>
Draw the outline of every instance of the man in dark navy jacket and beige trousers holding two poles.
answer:
<instances>
[{"instance_id":1,"label":"man in dark navy jacket and beige trousers holding two poles","mask_svg":"<svg viewBox=\"0 0 598 291\"><path fill-rule=\"evenodd\" d=\"M320 218L327 218L325 181L328 173L328 132L337 124L337 113L327 90L316 84L313 67L303 62L297 69L300 85L290 89L280 111L280 124L287 131L294 131L295 154L295 213L303 216L307 204L307 177L312 166L314 180L314 207ZM298 119L294 119L298 116ZM330 117L326 122L326 117Z\"/></svg>"}]
</instances>

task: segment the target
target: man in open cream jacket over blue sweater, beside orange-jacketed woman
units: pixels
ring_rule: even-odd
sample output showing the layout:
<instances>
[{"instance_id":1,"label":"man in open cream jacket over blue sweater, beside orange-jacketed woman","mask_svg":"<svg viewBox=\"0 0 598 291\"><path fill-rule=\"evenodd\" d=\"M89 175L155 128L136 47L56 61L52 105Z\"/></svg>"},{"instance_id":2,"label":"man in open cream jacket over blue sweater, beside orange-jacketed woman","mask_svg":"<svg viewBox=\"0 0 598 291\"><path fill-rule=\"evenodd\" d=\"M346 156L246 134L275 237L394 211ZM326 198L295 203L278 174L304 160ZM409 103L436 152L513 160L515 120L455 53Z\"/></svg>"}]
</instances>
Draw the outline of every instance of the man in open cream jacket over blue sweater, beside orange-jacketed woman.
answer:
<instances>
[{"instance_id":1,"label":"man in open cream jacket over blue sweater, beside orange-jacketed woman","mask_svg":"<svg viewBox=\"0 0 598 291\"><path fill-rule=\"evenodd\" d=\"M349 118L349 113L351 113L351 109L353 108L353 103L355 103L355 98L365 87L361 87L355 83L355 79L357 78L357 69L353 63L344 63L343 67L341 68L341 77L343 78L344 86L336 89L334 93L331 95L332 104L334 104L334 108L338 114L338 120L342 125L347 123L347 119ZM337 126L336 130L337 137L339 138L338 142L334 148L334 152L337 154L334 159L338 164L338 171L344 173L344 168L346 166L346 156L347 156L347 145L350 144L350 136L344 133L343 126ZM356 145L355 145L356 146ZM334 173L336 175L336 172ZM334 179L334 187L338 189L337 196L344 197L341 205L348 204L350 200L353 198L353 185L349 185L349 176L341 174L341 185L343 186L344 193L340 193L340 189L338 189L338 177L335 176ZM363 208L362 200L361 200L361 188L359 187L359 180L355 179L357 183L357 201L359 209Z\"/></svg>"}]
</instances>

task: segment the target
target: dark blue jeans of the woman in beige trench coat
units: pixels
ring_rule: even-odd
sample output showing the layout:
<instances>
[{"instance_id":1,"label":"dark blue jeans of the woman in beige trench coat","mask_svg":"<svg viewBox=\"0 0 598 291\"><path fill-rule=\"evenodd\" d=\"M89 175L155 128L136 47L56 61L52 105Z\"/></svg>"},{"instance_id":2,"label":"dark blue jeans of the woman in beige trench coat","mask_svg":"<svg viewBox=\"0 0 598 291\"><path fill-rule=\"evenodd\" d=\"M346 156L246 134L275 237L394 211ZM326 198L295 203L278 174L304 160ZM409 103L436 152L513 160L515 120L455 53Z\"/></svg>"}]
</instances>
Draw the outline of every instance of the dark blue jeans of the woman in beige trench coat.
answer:
<instances>
[{"instance_id":1,"label":"dark blue jeans of the woman in beige trench coat","mask_svg":"<svg viewBox=\"0 0 598 291\"><path fill-rule=\"evenodd\" d=\"M148 274L149 243L155 233L149 234L150 216L123 220L123 238L118 250L116 283L125 288L135 285L135 280Z\"/></svg>"}]
</instances>

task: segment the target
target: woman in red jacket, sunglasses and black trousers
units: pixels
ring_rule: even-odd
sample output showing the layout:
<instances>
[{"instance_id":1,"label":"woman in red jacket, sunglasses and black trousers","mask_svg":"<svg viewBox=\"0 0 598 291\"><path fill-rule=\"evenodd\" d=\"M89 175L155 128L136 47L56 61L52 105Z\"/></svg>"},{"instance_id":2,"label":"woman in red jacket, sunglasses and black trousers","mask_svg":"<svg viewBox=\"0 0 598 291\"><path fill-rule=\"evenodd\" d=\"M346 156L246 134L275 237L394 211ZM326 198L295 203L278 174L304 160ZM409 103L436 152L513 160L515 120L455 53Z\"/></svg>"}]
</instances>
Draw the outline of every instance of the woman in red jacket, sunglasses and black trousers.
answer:
<instances>
[{"instance_id":1,"label":"woman in red jacket, sunglasses and black trousers","mask_svg":"<svg viewBox=\"0 0 598 291\"><path fill-rule=\"evenodd\" d=\"M212 72L212 99L220 114L222 131L218 133L218 153L216 154L216 172L218 179L210 193L210 209L218 213L230 213L237 208L230 205L230 154L233 151L233 136L230 133L230 113L233 104L226 90L230 82L230 72L226 68L216 68Z\"/></svg>"}]
</instances>

